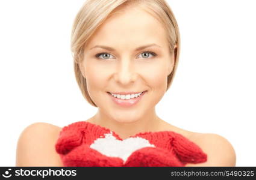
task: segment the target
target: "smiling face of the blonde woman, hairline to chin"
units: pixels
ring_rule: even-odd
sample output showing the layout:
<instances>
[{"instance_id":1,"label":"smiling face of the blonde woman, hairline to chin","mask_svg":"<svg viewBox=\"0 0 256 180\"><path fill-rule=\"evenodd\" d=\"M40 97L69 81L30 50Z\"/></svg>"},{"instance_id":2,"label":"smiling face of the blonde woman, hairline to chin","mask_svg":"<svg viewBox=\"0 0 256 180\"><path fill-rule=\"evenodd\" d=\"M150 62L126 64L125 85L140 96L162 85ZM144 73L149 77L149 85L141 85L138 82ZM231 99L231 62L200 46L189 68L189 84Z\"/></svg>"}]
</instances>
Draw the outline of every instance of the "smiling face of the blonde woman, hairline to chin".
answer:
<instances>
[{"instance_id":1,"label":"smiling face of the blonde woman, hairline to chin","mask_svg":"<svg viewBox=\"0 0 256 180\"><path fill-rule=\"evenodd\" d=\"M143 46L148 47L139 49ZM130 8L109 17L87 42L80 64L99 112L118 122L152 115L166 92L167 76L173 68L168 48L166 31L146 11ZM131 94L144 91L137 98Z\"/></svg>"}]
</instances>

